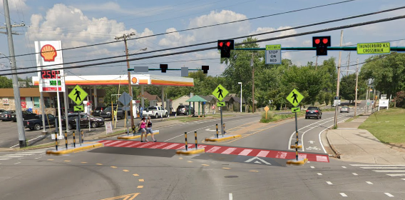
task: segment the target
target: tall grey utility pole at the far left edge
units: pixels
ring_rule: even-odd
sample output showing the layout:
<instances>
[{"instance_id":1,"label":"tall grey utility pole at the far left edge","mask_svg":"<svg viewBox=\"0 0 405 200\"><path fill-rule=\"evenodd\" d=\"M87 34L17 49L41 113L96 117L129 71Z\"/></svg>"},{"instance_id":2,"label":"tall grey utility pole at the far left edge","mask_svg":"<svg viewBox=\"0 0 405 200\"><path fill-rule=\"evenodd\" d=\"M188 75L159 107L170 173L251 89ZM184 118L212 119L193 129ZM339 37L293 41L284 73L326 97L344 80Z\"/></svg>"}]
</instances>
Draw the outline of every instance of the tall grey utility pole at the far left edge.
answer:
<instances>
[{"instance_id":1,"label":"tall grey utility pole at the far left edge","mask_svg":"<svg viewBox=\"0 0 405 200\"><path fill-rule=\"evenodd\" d=\"M9 54L11 59L11 73L13 79L13 91L14 91L14 102L16 105L16 119L17 119L17 131L19 132L19 145L21 147L26 146L26 136L24 131L23 124L23 112L21 111L21 99L20 99L20 89L19 89L19 77L17 76L17 66L16 66L16 57L14 56L14 42L13 42L13 33L11 32L11 21L10 21L10 12L9 12L9 1L3 0L4 6L4 18L6 20L6 34L9 41ZM15 25L16 26L25 26L25 24Z\"/></svg>"}]
</instances>

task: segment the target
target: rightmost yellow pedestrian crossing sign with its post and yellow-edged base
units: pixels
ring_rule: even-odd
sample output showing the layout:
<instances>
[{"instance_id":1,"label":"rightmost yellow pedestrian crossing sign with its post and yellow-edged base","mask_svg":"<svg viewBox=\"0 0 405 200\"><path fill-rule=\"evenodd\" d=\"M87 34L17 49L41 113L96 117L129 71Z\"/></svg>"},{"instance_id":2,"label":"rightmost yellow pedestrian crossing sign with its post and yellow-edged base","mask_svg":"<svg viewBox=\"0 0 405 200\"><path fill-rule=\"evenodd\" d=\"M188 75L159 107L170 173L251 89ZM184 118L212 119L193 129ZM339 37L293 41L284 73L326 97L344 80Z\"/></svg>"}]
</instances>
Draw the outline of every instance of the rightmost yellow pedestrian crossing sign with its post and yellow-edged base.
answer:
<instances>
[{"instance_id":1,"label":"rightmost yellow pedestrian crossing sign with its post and yellow-edged base","mask_svg":"<svg viewBox=\"0 0 405 200\"><path fill-rule=\"evenodd\" d=\"M298 160L298 148L302 148L302 144L298 143L298 124L297 124L297 112L300 111L299 107L297 106L299 105L299 103L301 103L302 99L304 99L304 96L302 96L302 94L300 94L299 91L297 91L297 89L293 89L286 99L287 101L289 101L289 103L291 103L295 107L292 108L292 112L295 113L295 133L297 135L297 141L295 142L295 145L290 146L290 148L295 147L296 160L287 161L287 164L305 164L308 161L308 159Z\"/></svg>"}]
</instances>

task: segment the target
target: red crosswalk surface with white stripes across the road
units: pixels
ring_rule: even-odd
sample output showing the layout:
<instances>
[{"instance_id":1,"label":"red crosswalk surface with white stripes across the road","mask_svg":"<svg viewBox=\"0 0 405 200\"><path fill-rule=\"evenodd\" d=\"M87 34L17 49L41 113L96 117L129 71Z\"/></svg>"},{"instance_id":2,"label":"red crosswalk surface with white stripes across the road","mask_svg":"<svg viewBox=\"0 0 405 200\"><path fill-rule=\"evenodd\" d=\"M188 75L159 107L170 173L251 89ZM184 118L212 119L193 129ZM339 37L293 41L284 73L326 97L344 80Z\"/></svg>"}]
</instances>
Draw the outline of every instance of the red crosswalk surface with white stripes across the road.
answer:
<instances>
[{"instance_id":1,"label":"red crosswalk surface with white stripes across the road","mask_svg":"<svg viewBox=\"0 0 405 200\"><path fill-rule=\"evenodd\" d=\"M140 141L122 141L122 140L102 140L98 141L104 146L144 148L144 149L185 149L185 144L171 142L147 142ZM195 144L188 144L188 148L195 148ZM205 153L213 154L232 154L240 156L257 156L273 159L295 159L294 151L277 151L266 149L251 149L244 147L232 146L215 146L215 145L198 145L198 148L204 148ZM308 154L304 152L298 153L299 159L308 159L308 161L329 162L327 154Z\"/></svg>"}]
</instances>

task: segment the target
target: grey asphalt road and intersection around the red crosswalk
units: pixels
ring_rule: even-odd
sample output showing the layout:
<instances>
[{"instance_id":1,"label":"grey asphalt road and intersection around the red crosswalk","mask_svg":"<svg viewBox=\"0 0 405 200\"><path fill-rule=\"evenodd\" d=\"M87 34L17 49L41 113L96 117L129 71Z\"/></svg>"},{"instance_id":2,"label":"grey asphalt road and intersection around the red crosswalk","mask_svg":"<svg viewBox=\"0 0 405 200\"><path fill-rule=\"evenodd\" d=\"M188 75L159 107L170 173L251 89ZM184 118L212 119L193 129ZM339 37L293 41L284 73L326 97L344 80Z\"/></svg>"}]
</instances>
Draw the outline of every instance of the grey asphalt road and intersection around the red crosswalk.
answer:
<instances>
[{"instance_id":1,"label":"grey asphalt road and intersection around the red crosswalk","mask_svg":"<svg viewBox=\"0 0 405 200\"><path fill-rule=\"evenodd\" d=\"M339 119L350 115L339 114ZM331 116L332 112L319 120L298 120L304 151L309 140L317 144L313 136L333 124ZM225 124L232 132L259 118L235 116L225 119ZM202 140L215 133L212 129L217 123L168 126L156 138L184 142L185 131L197 130ZM282 121L216 145L287 150L294 124L294 120ZM247 162L254 159L250 156L177 156L175 150L112 146L67 156L45 156L44 151L0 152L0 199L405 199L405 177L387 175L393 174L388 171L404 174L398 171L405 166L356 166L332 158L329 163L285 166L285 159L265 164Z\"/></svg>"}]
</instances>

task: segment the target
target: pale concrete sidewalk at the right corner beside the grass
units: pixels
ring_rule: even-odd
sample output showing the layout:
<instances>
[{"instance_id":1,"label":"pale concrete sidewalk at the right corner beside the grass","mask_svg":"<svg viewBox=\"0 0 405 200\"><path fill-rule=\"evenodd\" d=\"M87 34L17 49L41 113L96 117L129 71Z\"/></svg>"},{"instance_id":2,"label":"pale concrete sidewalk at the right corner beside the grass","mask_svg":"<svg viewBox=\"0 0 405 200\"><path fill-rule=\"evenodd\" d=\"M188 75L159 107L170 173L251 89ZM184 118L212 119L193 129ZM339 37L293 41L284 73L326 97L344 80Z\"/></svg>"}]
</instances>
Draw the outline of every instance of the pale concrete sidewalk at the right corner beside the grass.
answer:
<instances>
[{"instance_id":1,"label":"pale concrete sidewalk at the right corner beside the grass","mask_svg":"<svg viewBox=\"0 0 405 200\"><path fill-rule=\"evenodd\" d=\"M405 152L391 149L369 131L358 129L368 116L337 124L327 131L327 142L342 161L366 164L405 164Z\"/></svg>"}]
</instances>

